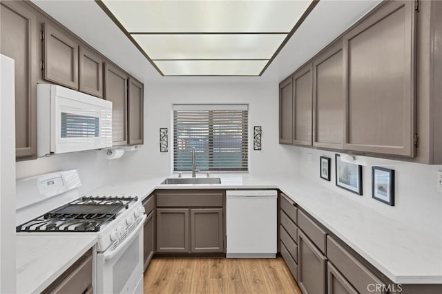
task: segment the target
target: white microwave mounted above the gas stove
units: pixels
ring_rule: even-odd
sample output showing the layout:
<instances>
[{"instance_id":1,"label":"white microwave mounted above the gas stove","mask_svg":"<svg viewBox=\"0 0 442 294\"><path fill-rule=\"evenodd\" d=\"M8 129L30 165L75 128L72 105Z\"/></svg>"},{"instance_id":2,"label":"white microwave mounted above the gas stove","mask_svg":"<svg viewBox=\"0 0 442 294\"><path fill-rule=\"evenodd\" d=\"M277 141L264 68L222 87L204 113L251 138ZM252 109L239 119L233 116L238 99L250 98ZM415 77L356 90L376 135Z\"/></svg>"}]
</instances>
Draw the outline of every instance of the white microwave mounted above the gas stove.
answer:
<instances>
[{"instance_id":1,"label":"white microwave mounted above the gas stove","mask_svg":"<svg viewBox=\"0 0 442 294\"><path fill-rule=\"evenodd\" d=\"M37 156L112 147L112 102L37 85Z\"/></svg>"}]
</instances>

